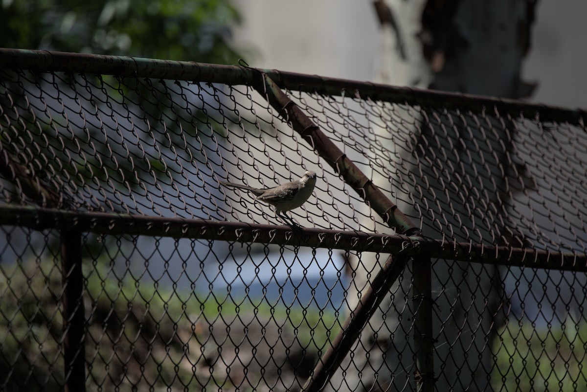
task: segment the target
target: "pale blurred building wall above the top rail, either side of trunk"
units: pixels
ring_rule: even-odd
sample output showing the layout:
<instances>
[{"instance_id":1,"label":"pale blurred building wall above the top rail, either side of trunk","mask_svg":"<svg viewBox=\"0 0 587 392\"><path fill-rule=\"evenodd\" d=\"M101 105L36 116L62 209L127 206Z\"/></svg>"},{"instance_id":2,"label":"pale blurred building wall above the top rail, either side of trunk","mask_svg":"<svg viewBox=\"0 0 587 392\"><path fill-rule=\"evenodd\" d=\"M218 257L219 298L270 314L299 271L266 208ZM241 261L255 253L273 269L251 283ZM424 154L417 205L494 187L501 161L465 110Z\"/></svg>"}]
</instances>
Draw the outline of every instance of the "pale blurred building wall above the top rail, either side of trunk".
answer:
<instances>
[{"instance_id":1,"label":"pale blurred building wall above the top rail, either side of trunk","mask_svg":"<svg viewBox=\"0 0 587 392\"><path fill-rule=\"evenodd\" d=\"M382 45L372 2L235 0L243 23L237 46L252 49L249 65L373 81ZM529 100L587 106L587 26L583 0L541 0L523 79L537 82Z\"/></svg>"}]
</instances>

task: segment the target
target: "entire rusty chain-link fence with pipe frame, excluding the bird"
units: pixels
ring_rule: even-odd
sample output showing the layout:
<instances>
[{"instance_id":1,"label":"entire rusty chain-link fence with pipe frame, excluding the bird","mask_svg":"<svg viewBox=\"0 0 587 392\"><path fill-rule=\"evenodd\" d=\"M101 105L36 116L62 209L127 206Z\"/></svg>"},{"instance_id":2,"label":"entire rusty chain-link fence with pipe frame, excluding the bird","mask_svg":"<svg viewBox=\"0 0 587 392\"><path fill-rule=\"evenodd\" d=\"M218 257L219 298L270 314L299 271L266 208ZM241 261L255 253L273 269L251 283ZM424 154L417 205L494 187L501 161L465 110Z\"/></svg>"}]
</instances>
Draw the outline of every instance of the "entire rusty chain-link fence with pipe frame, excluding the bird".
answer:
<instances>
[{"instance_id":1,"label":"entire rusty chain-link fence with pipe frame, excluding the bird","mask_svg":"<svg viewBox=\"0 0 587 392\"><path fill-rule=\"evenodd\" d=\"M587 390L585 111L71 53L0 69L1 390ZM292 222L220 184L306 170Z\"/></svg>"}]
</instances>

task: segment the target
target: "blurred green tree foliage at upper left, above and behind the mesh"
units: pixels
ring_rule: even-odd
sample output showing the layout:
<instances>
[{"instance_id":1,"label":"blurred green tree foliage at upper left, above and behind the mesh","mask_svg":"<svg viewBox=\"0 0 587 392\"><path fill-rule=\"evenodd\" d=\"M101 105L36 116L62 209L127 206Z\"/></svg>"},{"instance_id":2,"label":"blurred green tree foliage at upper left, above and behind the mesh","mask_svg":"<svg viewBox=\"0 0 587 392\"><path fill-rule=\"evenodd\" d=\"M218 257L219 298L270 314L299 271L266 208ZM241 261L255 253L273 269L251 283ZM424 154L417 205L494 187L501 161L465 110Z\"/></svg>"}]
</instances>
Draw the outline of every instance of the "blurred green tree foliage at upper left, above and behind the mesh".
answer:
<instances>
[{"instance_id":1,"label":"blurred green tree foliage at upper left, above and behind the mesh","mask_svg":"<svg viewBox=\"0 0 587 392\"><path fill-rule=\"evenodd\" d=\"M232 26L239 21L228 0L0 0L0 46L236 63L242 55L231 47L230 38ZM188 99L181 94L188 82L26 72L0 73L0 82L0 107L8 113L0 119L2 148L28 173L43 171L44 186L65 199L76 195L64 194L63 188L79 190L87 183L99 183L94 188L113 186L130 197L137 188L143 191L141 181L151 184L153 177L182 172L176 161L163 164L160 152L145 144L182 146L185 135L204 136L205 143L210 129L224 132L220 124L208 124L201 107L188 102L204 100L203 96ZM36 86L30 87L31 83ZM48 106L57 109L39 110L27 89L35 96L34 90L40 89ZM66 100L69 106L61 113L63 96L75 96L78 101ZM98 118L102 115L106 124ZM116 126L109 119L116 120ZM83 123L84 129L71 127L70 120ZM136 128L132 121L137 121ZM51 137L46 143L47 135ZM104 140L116 142L108 145ZM27 156L27 146L41 147ZM199 153L177 151L188 158ZM19 190L14 193L20 194Z\"/></svg>"}]
</instances>

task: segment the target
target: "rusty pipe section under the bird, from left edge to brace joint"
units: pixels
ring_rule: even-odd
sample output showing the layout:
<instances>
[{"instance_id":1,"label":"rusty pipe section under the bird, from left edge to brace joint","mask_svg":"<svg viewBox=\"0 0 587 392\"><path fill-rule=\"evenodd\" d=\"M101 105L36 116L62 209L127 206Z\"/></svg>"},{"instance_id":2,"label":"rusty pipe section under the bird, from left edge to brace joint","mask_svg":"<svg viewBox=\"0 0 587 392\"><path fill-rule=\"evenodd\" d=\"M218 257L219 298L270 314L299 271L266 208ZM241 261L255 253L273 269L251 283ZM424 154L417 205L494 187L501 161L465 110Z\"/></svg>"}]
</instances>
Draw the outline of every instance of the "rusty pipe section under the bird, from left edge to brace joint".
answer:
<instances>
[{"instance_id":1,"label":"rusty pipe section under the bird, from left edge to brace joint","mask_svg":"<svg viewBox=\"0 0 587 392\"><path fill-rule=\"evenodd\" d=\"M147 217L144 215L68 211L14 205L0 206L0 225L19 225L35 230L75 228L80 232L98 234L129 234L254 242L258 244L311 246L313 248L389 254L397 253L406 244L419 240L419 238L410 238L405 235L383 235L360 231L292 228L289 226L243 222ZM436 246L437 244L431 245Z\"/></svg>"}]
</instances>

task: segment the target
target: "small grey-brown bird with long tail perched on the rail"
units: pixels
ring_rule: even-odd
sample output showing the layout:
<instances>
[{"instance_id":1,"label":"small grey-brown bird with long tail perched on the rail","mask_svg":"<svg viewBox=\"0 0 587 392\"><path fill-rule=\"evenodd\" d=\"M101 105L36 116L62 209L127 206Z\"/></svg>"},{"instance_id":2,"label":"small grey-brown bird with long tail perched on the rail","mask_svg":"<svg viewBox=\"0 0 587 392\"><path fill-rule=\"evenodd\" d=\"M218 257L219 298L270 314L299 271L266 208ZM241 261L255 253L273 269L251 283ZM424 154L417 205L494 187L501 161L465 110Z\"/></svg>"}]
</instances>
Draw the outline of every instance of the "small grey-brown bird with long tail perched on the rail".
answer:
<instances>
[{"instance_id":1,"label":"small grey-brown bird with long tail perched on the rail","mask_svg":"<svg viewBox=\"0 0 587 392\"><path fill-rule=\"evenodd\" d=\"M275 214L278 217L289 218L284 212L301 207L312 195L316 185L316 173L308 170L302 178L272 188L254 188L248 185L219 181L224 187L246 190L255 195L255 200L265 202L275 207ZM293 220L289 218L293 223Z\"/></svg>"}]
</instances>

